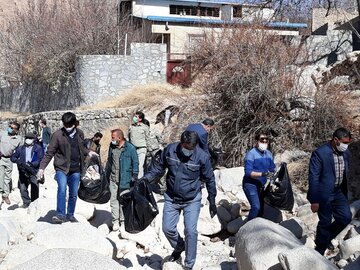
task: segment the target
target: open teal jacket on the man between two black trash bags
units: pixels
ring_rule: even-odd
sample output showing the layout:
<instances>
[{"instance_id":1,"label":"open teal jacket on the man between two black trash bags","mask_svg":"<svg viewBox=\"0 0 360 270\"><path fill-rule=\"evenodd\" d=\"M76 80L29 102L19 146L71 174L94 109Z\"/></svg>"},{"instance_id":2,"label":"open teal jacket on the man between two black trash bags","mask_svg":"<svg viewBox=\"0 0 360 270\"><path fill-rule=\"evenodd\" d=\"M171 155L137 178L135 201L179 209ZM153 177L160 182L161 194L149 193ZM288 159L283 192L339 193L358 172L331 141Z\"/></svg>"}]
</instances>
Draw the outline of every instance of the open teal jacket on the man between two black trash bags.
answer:
<instances>
[{"instance_id":1,"label":"open teal jacket on the man between two black trash bags","mask_svg":"<svg viewBox=\"0 0 360 270\"><path fill-rule=\"evenodd\" d=\"M111 173L111 164L112 164L112 149L115 146L110 144L109 146L109 154L108 160L105 168L106 179L110 181L110 173ZM119 187L121 189L130 188L130 182L133 177L138 176L139 174L139 159L136 153L135 146L131 143L125 141L124 150L120 155L120 175L119 175Z\"/></svg>"}]
</instances>

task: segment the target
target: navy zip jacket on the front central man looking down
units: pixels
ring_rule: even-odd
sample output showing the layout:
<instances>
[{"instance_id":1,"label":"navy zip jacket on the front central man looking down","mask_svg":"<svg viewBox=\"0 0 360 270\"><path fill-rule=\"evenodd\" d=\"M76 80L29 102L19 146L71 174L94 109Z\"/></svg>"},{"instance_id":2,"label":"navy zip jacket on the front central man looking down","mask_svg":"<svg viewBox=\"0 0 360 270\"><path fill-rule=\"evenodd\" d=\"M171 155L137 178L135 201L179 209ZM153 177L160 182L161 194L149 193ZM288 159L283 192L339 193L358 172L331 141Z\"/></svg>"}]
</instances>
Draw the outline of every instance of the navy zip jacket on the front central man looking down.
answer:
<instances>
[{"instance_id":1,"label":"navy zip jacket on the front central man looking down","mask_svg":"<svg viewBox=\"0 0 360 270\"><path fill-rule=\"evenodd\" d=\"M166 193L174 201L186 202L193 200L201 192L201 181L206 184L208 201L215 204L216 184L209 156L196 147L190 158L181 153L180 142L169 144L161 153L159 162L155 163L144 179L153 181L165 173Z\"/></svg>"}]
</instances>

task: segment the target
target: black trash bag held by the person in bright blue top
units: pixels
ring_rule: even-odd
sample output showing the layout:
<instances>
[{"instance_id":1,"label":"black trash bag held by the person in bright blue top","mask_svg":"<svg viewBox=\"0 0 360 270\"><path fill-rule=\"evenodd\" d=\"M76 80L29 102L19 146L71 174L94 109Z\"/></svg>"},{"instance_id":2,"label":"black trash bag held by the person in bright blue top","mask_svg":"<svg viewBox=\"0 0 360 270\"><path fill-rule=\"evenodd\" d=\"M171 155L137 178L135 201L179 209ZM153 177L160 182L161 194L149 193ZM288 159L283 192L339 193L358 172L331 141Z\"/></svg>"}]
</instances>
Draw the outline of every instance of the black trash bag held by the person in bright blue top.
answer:
<instances>
[{"instance_id":1,"label":"black trash bag held by the person in bright blue top","mask_svg":"<svg viewBox=\"0 0 360 270\"><path fill-rule=\"evenodd\" d=\"M285 162L281 163L279 170L266 188L264 200L267 204L281 210L293 209L294 194Z\"/></svg>"}]
</instances>

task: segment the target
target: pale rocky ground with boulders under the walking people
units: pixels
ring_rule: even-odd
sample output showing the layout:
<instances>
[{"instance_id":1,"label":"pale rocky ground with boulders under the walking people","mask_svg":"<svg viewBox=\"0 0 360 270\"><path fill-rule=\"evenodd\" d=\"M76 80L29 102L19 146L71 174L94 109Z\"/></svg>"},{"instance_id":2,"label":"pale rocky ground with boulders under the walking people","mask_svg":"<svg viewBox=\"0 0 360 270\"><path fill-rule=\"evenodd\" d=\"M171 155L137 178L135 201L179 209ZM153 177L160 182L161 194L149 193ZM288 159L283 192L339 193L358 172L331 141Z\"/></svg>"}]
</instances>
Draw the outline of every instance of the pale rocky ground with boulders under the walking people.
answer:
<instances>
[{"instance_id":1,"label":"pale rocky ground with boulders under the walking people","mask_svg":"<svg viewBox=\"0 0 360 270\"><path fill-rule=\"evenodd\" d=\"M335 250L326 259L313 249L317 216L311 213L304 194L295 190L291 213L267 206L268 220L245 223L249 205L241 187L243 168L220 169L215 175L218 216L210 218L204 191L194 269L360 269L360 220L355 218L360 201L353 203L354 220L334 241ZM0 270L181 269L178 263L166 262L172 248L161 229L162 196L155 194L160 214L138 234L123 228L111 232L109 203L94 205L80 199L75 213L79 223L55 225L51 224L57 188L53 177L49 165L40 198L29 208L20 207L17 188L10 196L12 204L1 205ZM14 186L16 179L15 169ZM182 220L178 226L182 232Z\"/></svg>"}]
</instances>

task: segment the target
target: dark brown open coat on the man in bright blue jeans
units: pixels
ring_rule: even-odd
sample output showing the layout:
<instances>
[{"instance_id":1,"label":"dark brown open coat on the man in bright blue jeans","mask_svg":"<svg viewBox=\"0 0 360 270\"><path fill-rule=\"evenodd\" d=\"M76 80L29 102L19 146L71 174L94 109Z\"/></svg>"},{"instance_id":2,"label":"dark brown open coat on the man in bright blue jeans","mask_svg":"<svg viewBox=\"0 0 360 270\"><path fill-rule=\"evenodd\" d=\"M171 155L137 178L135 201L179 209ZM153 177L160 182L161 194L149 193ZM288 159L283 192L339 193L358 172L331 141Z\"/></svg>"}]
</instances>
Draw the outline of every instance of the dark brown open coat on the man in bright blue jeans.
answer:
<instances>
[{"instance_id":1,"label":"dark brown open coat on the man in bright blue jeans","mask_svg":"<svg viewBox=\"0 0 360 270\"><path fill-rule=\"evenodd\" d=\"M83 173L85 169L84 159L89 153L89 150L84 147L84 133L82 130L76 128L75 137L78 140L80 169ZM64 128L57 130L51 136L50 144L48 145L44 159L40 163L40 169L44 170L53 157L55 170L68 174L70 170L71 146Z\"/></svg>"}]
</instances>

